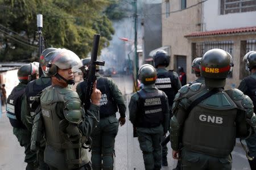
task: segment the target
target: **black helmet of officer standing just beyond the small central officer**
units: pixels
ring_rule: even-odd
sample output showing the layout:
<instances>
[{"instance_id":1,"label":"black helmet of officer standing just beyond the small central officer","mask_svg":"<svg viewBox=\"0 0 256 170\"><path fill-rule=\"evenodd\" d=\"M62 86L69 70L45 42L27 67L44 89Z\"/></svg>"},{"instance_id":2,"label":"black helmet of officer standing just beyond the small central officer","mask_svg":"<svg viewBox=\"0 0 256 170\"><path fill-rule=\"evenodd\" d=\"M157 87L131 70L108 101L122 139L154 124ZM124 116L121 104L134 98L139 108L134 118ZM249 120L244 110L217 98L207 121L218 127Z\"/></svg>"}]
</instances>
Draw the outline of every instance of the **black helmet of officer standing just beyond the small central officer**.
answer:
<instances>
[{"instance_id":1,"label":"black helmet of officer standing just beyond the small central officer","mask_svg":"<svg viewBox=\"0 0 256 170\"><path fill-rule=\"evenodd\" d=\"M164 65L168 66L170 63L170 56L168 56L168 53L165 50L158 50L153 55L154 59L154 66L157 68L158 65Z\"/></svg>"}]
</instances>

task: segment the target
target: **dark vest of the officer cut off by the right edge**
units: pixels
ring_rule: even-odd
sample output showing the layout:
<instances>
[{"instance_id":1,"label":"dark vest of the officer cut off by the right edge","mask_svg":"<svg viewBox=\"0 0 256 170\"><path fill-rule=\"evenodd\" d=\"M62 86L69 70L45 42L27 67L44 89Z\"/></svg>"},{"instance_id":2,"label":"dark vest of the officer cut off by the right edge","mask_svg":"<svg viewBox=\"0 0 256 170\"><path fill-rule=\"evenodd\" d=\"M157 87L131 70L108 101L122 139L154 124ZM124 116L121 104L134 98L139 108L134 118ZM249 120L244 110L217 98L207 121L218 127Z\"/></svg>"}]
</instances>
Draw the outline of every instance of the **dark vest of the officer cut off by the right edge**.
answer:
<instances>
[{"instance_id":1,"label":"dark vest of the officer cut off by the right edge","mask_svg":"<svg viewBox=\"0 0 256 170\"><path fill-rule=\"evenodd\" d=\"M254 79L252 76L247 76L245 78L246 86L247 86L247 92L245 92L245 95L249 96L251 100L253 100L254 105L254 113L256 113L256 79Z\"/></svg>"}]
</instances>

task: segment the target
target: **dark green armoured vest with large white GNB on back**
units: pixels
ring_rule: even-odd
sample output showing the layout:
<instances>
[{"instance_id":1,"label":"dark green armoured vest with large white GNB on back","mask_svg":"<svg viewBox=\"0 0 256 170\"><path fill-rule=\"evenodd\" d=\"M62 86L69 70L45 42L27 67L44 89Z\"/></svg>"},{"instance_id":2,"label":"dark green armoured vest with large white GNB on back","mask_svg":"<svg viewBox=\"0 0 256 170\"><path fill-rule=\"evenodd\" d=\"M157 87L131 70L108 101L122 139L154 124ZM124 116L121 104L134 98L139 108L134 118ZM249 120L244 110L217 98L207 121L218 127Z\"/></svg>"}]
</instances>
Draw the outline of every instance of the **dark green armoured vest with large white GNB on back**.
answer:
<instances>
[{"instance_id":1,"label":"dark green armoured vest with large white GNB on back","mask_svg":"<svg viewBox=\"0 0 256 170\"><path fill-rule=\"evenodd\" d=\"M188 100L195 100L195 96ZM228 156L236 143L236 114L237 105L225 91L201 101L185 120L184 147L208 155Z\"/></svg>"}]
</instances>

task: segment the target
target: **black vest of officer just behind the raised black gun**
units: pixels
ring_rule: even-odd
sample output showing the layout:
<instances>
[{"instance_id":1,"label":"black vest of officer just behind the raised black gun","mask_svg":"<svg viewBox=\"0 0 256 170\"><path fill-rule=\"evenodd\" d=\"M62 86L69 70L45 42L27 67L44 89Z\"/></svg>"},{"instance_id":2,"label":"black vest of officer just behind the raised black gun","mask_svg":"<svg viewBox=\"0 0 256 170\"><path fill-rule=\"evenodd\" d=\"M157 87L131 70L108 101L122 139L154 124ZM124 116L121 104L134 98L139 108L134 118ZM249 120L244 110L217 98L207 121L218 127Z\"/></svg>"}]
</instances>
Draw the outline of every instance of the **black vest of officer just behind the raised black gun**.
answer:
<instances>
[{"instance_id":1,"label":"black vest of officer just behind the raised black gun","mask_svg":"<svg viewBox=\"0 0 256 170\"><path fill-rule=\"evenodd\" d=\"M85 99L86 82L80 83L82 90L82 103ZM108 86L108 79L105 77L100 77L97 79L97 88L101 91L100 100L100 118L109 117L118 111L117 104L115 103L113 96L111 94L110 87Z\"/></svg>"}]
</instances>

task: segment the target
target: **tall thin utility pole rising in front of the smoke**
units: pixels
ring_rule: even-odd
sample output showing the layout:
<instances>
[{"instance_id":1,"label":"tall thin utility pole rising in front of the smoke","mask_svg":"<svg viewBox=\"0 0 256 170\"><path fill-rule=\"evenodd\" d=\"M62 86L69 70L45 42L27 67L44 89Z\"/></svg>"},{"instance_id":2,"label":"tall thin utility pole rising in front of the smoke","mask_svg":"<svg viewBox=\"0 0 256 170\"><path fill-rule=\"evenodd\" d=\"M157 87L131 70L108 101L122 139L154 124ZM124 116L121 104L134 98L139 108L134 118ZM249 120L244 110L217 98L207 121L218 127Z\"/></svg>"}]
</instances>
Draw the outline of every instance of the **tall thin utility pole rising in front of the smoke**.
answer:
<instances>
[{"instance_id":1,"label":"tall thin utility pole rising in front of the smoke","mask_svg":"<svg viewBox=\"0 0 256 170\"><path fill-rule=\"evenodd\" d=\"M134 0L134 48L135 48L135 84L137 87L137 76L138 76L138 54L137 54L137 20L138 20L138 15L137 15L137 0Z\"/></svg>"}]
</instances>

